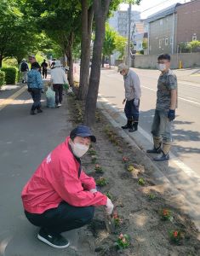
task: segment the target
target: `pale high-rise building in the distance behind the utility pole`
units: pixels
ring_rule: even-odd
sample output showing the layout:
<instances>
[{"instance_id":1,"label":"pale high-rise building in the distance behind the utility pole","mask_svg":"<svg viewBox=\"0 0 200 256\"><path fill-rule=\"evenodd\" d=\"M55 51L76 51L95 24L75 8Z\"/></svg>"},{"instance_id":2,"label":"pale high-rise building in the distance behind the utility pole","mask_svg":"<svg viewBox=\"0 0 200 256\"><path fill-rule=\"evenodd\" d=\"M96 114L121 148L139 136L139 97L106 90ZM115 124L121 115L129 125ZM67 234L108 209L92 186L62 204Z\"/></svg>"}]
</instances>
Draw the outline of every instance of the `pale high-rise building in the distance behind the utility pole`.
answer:
<instances>
[{"instance_id":1,"label":"pale high-rise building in the distance behind the utility pole","mask_svg":"<svg viewBox=\"0 0 200 256\"><path fill-rule=\"evenodd\" d=\"M131 24L134 20L140 20L140 12L131 12ZM112 17L108 20L109 25L117 31L121 36L128 37L128 22L129 22L129 9L126 11L115 11L112 13Z\"/></svg>"}]
</instances>

